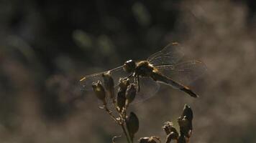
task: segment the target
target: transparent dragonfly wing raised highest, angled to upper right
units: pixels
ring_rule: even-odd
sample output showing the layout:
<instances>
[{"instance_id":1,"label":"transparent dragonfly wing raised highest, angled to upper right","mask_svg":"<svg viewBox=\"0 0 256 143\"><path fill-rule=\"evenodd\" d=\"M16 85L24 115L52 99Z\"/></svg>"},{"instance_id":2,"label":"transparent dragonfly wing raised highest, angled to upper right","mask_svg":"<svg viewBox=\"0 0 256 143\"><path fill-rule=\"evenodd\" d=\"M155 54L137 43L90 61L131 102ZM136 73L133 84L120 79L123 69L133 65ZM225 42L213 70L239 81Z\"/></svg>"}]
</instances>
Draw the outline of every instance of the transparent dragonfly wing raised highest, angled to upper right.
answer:
<instances>
[{"instance_id":1,"label":"transparent dragonfly wing raised highest, angled to upper right","mask_svg":"<svg viewBox=\"0 0 256 143\"><path fill-rule=\"evenodd\" d=\"M176 64L184 56L183 51L181 51L180 44L171 43L165 46L161 51L152 54L147 61L153 66L163 65L163 64Z\"/></svg>"}]
</instances>

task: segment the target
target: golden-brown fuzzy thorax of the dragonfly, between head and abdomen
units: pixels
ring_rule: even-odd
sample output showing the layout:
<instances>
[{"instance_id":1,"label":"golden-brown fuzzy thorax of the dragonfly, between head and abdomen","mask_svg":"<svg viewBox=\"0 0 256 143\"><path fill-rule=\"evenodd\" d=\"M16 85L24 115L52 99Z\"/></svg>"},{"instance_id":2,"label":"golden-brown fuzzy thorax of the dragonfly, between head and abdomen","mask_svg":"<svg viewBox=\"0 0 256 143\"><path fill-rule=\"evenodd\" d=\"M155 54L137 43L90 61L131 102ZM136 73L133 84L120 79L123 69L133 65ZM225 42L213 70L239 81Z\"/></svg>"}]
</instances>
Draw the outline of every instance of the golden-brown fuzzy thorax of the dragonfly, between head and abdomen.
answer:
<instances>
[{"instance_id":1,"label":"golden-brown fuzzy thorax of the dragonfly, between head and abdomen","mask_svg":"<svg viewBox=\"0 0 256 143\"><path fill-rule=\"evenodd\" d=\"M142 77L150 77L154 67L148 61L139 61L137 63L135 74Z\"/></svg>"}]
</instances>

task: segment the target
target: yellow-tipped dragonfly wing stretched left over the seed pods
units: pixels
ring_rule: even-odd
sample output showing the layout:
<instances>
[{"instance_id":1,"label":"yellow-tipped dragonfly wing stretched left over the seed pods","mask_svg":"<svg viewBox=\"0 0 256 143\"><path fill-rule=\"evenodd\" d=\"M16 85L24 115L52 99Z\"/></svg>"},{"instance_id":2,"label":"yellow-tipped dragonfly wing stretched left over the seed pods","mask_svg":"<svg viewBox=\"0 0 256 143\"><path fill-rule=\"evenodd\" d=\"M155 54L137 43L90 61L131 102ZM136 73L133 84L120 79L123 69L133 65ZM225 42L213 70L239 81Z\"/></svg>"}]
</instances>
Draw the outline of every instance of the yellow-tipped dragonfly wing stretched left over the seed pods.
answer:
<instances>
[{"instance_id":1,"label":"yellow-tipped dragonfly wing stretched left over the seed pods","mask_svg":"<svg viewBox=\"0 0 256 143\"><path fill-rule=\"evenodd\" d=\"M101 83L104 84L102 74L106 72L108 71L99 72L97 74L91 74L80 79L80 84L82 89L86 91L91 91L92 90L91 86L93 82L97 82L97 81L101 81ZM123 66L119 66L114 69L111 69L109 70L109 72L111 74L111 77L114 79L114 84L116 85L119 83L119 78L127 77L129 75L123 70Z\"/></svg>"}]
</instances>

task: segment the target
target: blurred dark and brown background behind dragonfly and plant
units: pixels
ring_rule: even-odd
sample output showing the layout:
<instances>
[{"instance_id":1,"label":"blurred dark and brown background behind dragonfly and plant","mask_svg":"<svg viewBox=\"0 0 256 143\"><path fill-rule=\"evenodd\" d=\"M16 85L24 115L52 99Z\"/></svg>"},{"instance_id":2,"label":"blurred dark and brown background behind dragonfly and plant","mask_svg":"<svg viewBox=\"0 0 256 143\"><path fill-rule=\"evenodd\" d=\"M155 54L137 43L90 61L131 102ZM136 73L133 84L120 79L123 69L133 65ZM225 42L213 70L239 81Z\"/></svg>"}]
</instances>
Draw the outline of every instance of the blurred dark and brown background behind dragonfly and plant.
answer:
<instances>
[{"instance_id":1,"label":"blurred dark and brown background behind dragonfly and plant","mask_svg":"<svg viewBox=\"0 0 256 143\"><path fill-rule=\"evenodd\" d=\"M256 142L255 12L249 0L1 0L0 142L111 142L122 130L78 80L172 41L208 67L190 85L200 98L162 86L132 107L136 139L164 141L187 103L191 142Z\"/></svg>"}]
</instances>

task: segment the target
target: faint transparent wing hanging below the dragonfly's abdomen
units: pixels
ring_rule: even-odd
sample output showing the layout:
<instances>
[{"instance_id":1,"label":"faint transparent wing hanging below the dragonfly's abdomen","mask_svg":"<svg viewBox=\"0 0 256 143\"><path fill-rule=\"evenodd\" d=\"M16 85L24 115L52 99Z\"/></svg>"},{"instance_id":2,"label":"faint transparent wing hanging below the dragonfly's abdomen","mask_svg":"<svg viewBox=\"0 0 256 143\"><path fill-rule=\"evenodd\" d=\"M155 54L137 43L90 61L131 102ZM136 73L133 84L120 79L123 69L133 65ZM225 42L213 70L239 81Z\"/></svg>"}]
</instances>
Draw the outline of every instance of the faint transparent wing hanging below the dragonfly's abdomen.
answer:
<instances>
[{"instance_id":1,"label":"faint transparent wing hanging below the dragonfly's abdomen","mask_svg":"<svg viewBox=\"0 0 256 143\"><path fill-rule=\"evenodd\" d=\"M137 92L133 104L144 102L154 96L160 85L150 77L140 77L140 92Z\"/></svg>"}]
</instances>

